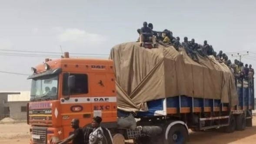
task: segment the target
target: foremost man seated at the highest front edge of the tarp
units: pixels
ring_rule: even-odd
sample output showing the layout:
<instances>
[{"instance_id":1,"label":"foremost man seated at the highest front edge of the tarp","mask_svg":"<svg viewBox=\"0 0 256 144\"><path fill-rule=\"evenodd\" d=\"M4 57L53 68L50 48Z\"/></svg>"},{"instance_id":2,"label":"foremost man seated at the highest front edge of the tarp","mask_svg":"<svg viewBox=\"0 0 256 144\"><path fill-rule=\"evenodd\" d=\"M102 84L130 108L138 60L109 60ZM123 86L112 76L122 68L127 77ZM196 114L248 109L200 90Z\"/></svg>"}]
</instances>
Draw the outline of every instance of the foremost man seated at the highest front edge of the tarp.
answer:
<instances>
[{"instance_id":1,"label":"foremost man seated at the highest front edge of the tarp","mask_svg":"<svg viewBox=\"0 0 256 144\"><path fill-rule=\"evenodd\" d=\"M156 36L153 35L153 31L150 27L147 26L147 22L143 23L143 27L140 29L140 46L146 41L152 40L153 47L156 46Z\"/></svg>"}]
</instances>

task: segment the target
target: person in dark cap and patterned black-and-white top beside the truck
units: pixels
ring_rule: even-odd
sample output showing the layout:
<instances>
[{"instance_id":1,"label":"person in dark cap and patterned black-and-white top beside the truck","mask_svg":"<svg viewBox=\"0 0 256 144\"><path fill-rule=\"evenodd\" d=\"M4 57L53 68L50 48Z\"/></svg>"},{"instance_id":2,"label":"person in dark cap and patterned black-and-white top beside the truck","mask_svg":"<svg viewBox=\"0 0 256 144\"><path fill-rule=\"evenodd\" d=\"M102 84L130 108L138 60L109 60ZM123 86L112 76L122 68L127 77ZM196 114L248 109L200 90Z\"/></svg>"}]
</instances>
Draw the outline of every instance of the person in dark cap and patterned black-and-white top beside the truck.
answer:
<instances>
[{"instance_id":1,"label":"person in dark cap and patterned black-and-white top beside the truck","mask_svg":"<svg viewBox=\"0 0 256 144\"><path fill-rule=\"evenodd\" d=\"M89 144L103 144L104 137L103 129L100 127L102 118L96 116L92 121L93 131L89 135Z\"/></svg>"}]
</instances>

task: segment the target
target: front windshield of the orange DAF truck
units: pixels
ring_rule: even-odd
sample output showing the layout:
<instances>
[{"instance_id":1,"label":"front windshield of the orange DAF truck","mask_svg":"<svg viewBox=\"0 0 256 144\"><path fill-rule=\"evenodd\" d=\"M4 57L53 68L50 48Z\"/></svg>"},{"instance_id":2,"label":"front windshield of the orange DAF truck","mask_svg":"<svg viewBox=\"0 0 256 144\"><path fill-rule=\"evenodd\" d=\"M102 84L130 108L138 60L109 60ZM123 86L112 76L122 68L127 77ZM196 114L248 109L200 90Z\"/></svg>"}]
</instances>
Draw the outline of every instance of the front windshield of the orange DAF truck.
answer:
<instances>
[{"instance_id":1,"label":"front windshield of the orange DAF truck","mask_svg":"<svg viewBox=\"0 0 256 144\"><path fill-rule=\"evenodd\" d=\"M58 98L58 76L32 79L30 101L56 100Z\"/></svg>"}]
</instances>

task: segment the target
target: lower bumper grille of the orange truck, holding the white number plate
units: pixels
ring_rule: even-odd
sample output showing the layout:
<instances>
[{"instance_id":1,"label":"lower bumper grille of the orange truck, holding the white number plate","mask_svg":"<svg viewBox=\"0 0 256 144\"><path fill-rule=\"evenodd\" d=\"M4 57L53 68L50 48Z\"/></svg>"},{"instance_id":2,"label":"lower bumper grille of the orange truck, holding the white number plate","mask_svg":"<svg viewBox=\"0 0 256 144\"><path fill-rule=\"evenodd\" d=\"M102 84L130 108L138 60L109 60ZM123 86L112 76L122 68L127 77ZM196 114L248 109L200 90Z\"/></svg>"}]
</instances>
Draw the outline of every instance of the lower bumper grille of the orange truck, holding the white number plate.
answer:
<instances>
[{"instance_id":1,"label":"lower bumper grille of the orange truck, holding the white number plate","mask_svg":"<svg viewBox=\"0 0 256 144\"><path fill-rule=\"evenodd\" d=\"M47 128L33 127L32 139L33 139L34 144L46 144L47 143Z\"/></svg>"}]
</instances>

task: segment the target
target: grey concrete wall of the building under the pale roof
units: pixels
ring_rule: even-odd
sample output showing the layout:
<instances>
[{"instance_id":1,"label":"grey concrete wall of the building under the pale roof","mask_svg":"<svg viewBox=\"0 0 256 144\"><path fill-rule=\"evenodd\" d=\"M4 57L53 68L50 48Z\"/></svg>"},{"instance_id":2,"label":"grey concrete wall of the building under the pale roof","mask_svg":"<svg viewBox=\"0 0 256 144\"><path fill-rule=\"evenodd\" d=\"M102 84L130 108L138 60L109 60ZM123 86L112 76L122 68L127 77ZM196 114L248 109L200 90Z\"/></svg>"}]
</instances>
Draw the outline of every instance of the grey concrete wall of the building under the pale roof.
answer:
<instances>
[{"instance_id":1,"label":"grey concrete wall of the building under the pale roof","mask_svg":"<svg viewBox=\"0 0 256 144\"><path fill-rule=\"evenodd\" d=\"M9 102L10 106L10 118L16 120L26 120L27 119L27 112L21 111L22 106L27 106L28 101L13 101Z\"/></svg>"}]
</instances>

